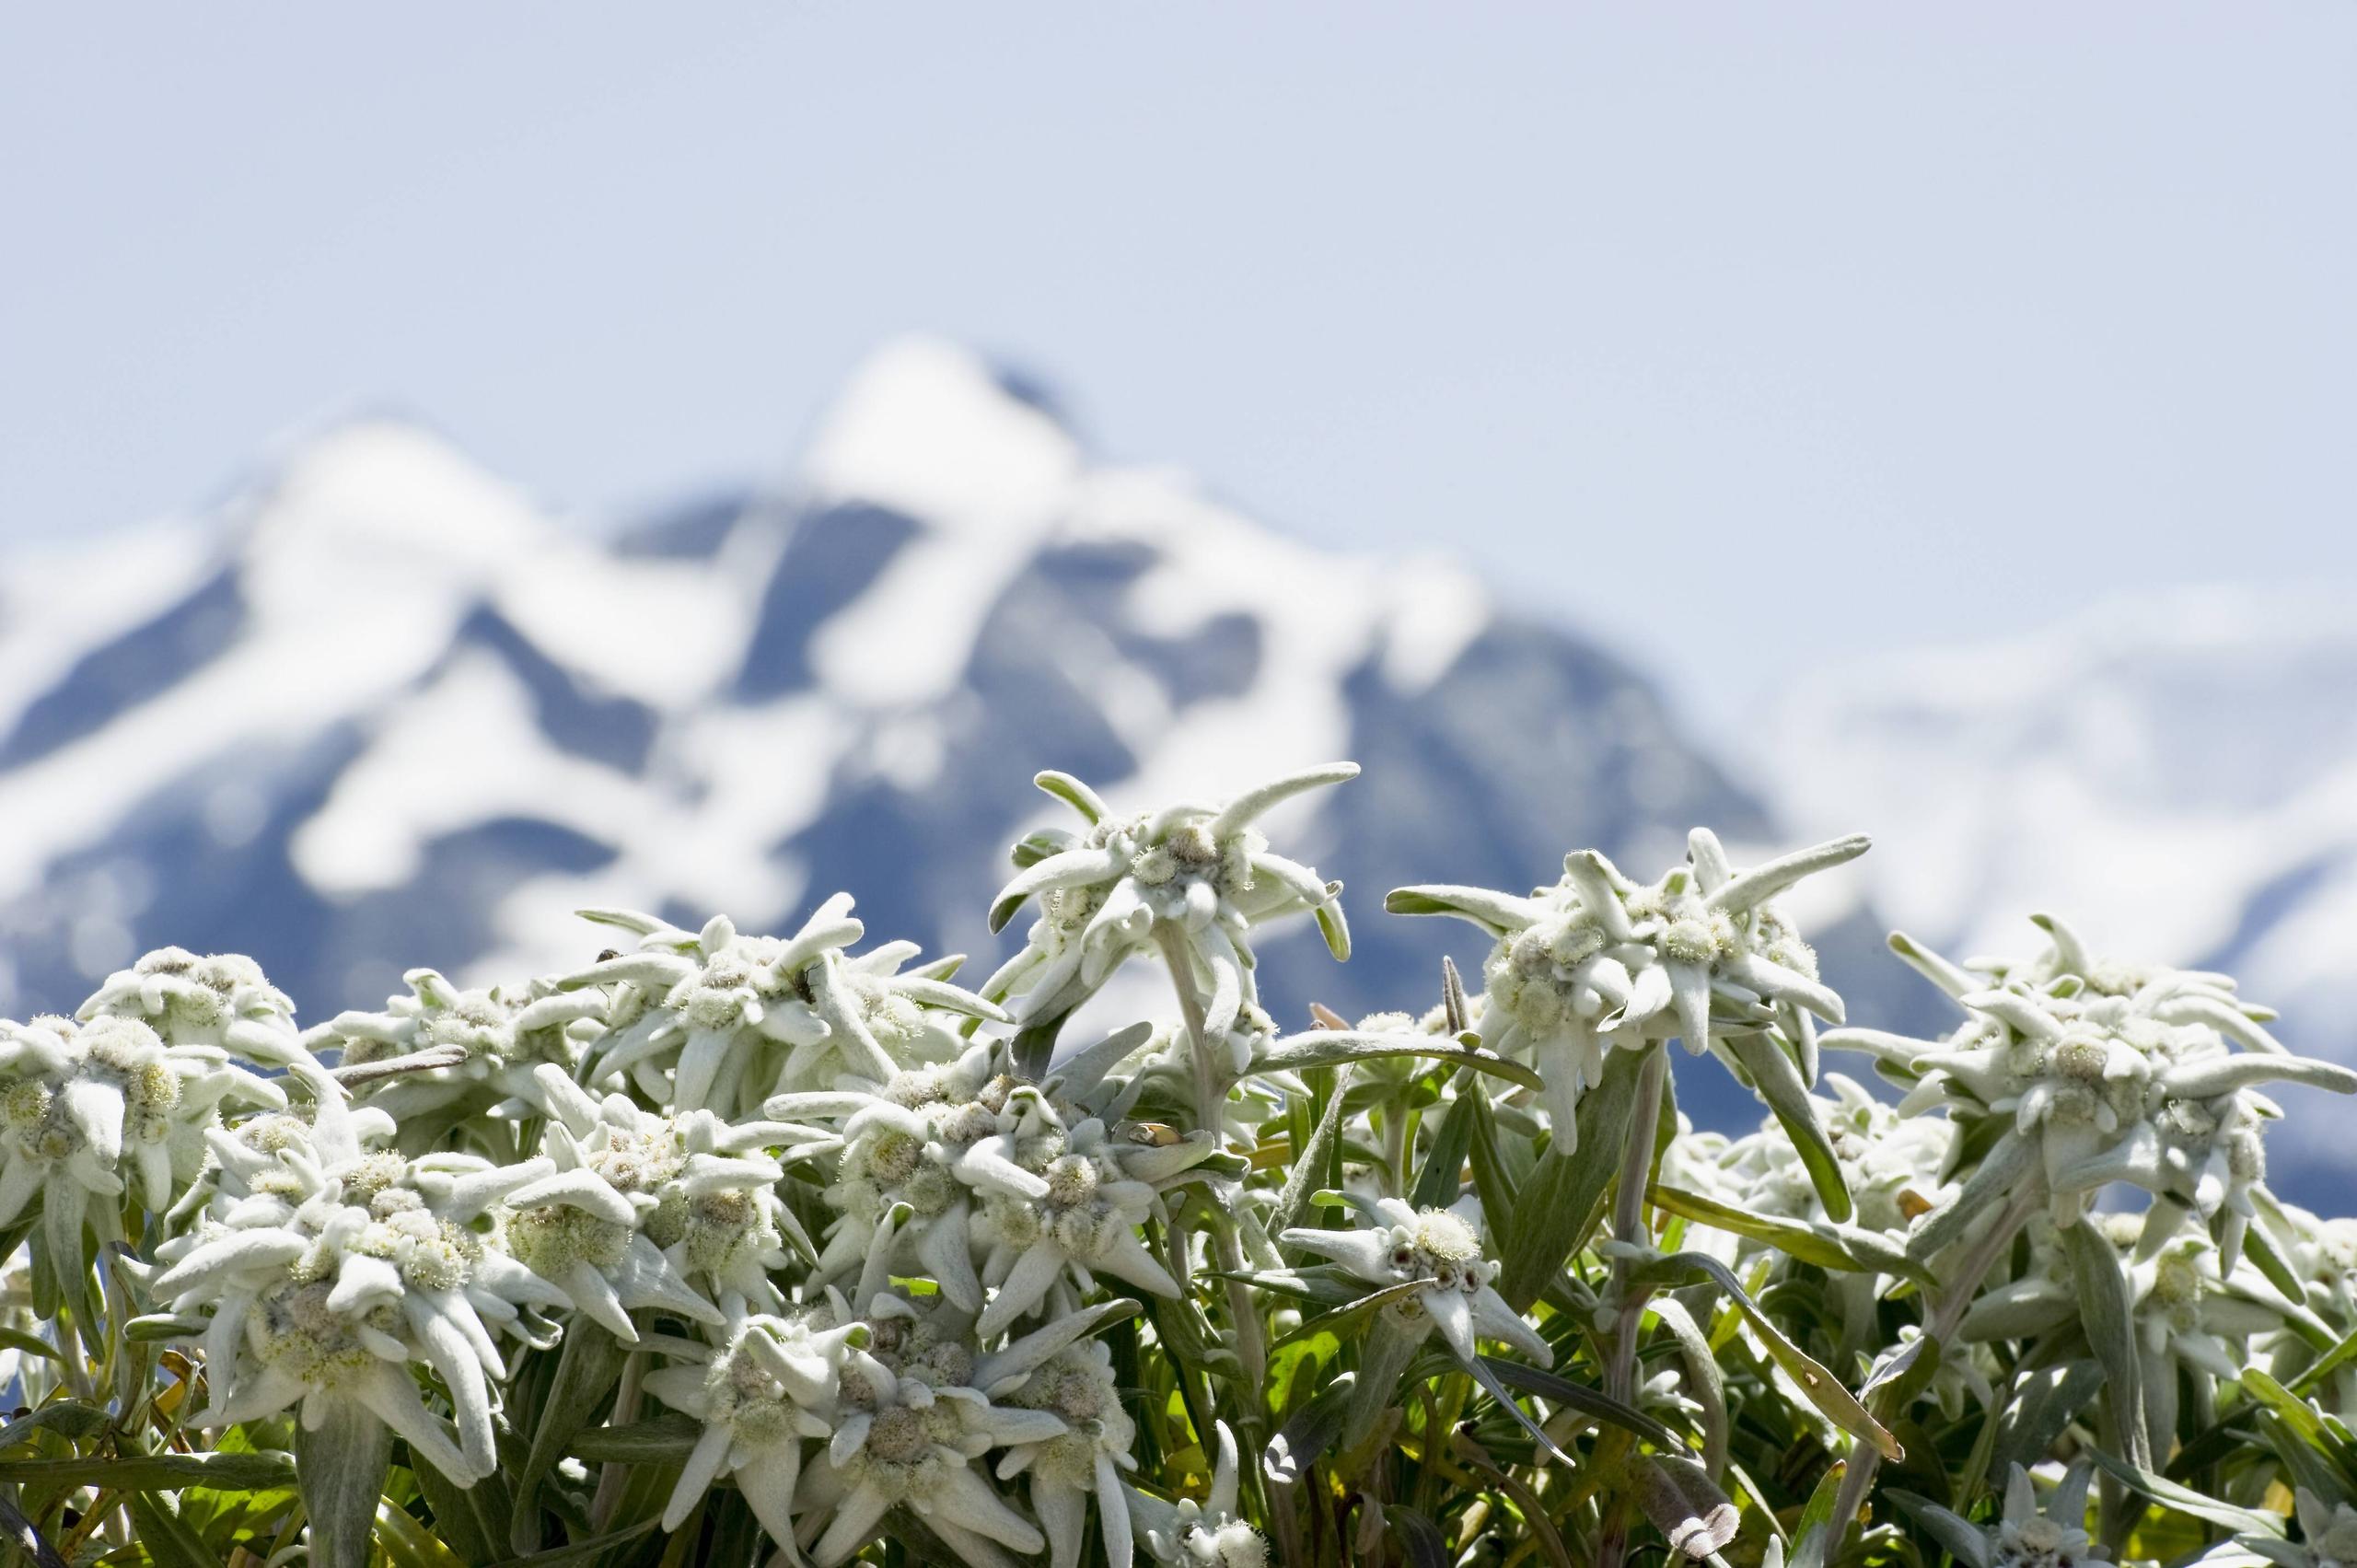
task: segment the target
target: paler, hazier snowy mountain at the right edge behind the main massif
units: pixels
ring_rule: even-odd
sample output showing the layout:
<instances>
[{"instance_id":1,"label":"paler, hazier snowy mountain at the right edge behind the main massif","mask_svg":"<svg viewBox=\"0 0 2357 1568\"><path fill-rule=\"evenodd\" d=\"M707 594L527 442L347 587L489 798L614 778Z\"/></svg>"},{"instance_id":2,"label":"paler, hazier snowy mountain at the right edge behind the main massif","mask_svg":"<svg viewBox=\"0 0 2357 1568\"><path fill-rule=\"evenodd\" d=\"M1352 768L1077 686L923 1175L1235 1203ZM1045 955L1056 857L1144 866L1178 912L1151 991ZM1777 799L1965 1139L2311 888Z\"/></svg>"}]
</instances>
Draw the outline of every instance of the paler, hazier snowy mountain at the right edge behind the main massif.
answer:
<instances>
[{"instance_id":1,"label":"paler, hazier snowy mountain at the right edge behind the main massif","mask_svg":"<svg viewBox=\"0 0 2357 1568\"><path fill-rule=\"evenodd\" d=\"M2117 599L2039 634L1803 686L1765 769L1798 830L1864 823L1874 905L1947 950L2225 969L2293 1049L2357 1061L2357 604ZM2279 1160L2350 1167L2357 1106L2286 1092ZM2296 1144L2305 1144L2296 1151Z\"/></svg>"}]
</instances>

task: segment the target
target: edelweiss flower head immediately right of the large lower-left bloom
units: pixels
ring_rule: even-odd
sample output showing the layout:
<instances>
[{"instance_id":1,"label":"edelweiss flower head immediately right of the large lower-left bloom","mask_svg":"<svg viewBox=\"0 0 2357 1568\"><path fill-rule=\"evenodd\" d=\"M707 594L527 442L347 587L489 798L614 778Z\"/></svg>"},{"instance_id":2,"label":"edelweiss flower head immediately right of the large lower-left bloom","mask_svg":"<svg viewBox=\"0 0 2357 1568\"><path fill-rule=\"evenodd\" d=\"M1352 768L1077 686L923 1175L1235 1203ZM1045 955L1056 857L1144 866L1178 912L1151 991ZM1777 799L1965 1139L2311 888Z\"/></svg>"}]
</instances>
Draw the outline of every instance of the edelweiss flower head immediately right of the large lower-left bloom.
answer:
<instances>
[{"instance_id":1,"label":"edelweiss flower head immediately right of the large lower-left bloom","mask_svg":"<svg viewBox=\"0 0 2357 1568\"><path fill-rule=\"evenodd\" d=\"M775 1304L768 1269L783 1261L780 1233L816 1254L775 1193L785 1167L764 1151L792 1158L830 1146L827 1132L728 1125L709 1111L669 1118L627 1094L596 1101L547 1063L540 1080L554 1172L509 1193L507 1245L625 1344L639 1342L629 1320L639 1309L719 1323L691 1280Z\"/></svg>"}]
</instances>

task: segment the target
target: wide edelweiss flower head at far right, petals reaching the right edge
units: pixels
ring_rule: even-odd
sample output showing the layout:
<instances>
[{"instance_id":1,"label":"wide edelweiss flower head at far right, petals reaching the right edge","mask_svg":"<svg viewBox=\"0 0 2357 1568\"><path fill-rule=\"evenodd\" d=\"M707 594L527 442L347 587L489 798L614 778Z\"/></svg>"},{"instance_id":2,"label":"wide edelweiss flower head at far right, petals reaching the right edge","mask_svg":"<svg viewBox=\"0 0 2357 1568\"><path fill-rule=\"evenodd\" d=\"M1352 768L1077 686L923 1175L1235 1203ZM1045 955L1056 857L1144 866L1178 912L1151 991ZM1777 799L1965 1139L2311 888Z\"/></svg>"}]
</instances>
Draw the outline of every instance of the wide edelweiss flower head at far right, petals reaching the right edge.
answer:
<instances>
[{"instance_id":1,"label":"wide edelweiss flower head at far right, petals reaching the right edge","mask_svg":"<svg viewBox=\"0 0 2357 1568\"><path fill-rule=\"evenodd\" d=\"M2067 1224L2095 1188L2133 1181L2159 1198L2154 1240L2192 1212L2232 1259L2265 1191L2260 1127L2279 1115L2253 1087L2348 1094L2357 1073L2289 1054L2263 1028L2275 1014L2239 1002L2223 974L2095 960L2053 915L2032 920L2048 946L2029 962L1952 964L1895 934L1893 950L1966 1021L1937 1042L1846 1028L1824 1045L1869 1052L1914 1085L1907 1113L2011 1122L1980 1165L1987 1191L1968 1184L1966 1200L2036 1172Z\"/></svg>"}]
</instances>

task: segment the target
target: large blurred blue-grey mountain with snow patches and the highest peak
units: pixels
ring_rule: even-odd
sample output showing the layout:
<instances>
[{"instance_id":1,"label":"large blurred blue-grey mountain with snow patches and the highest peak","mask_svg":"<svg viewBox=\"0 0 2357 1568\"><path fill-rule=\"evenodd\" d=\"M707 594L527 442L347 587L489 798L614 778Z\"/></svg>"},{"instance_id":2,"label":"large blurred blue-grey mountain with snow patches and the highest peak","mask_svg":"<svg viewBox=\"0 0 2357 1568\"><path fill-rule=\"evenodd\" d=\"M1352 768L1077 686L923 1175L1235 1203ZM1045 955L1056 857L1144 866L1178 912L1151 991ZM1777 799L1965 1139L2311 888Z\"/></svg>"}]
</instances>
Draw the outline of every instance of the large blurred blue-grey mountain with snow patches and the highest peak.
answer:
<instances>
[{"instance_id":1,"label":"large blurred blue-grey mountain with snow patches and the highest peak","mask_svg":"<svg viewBox=\"0 0 2357 1568\"><path fill-rule=\"evenodd\" d=\"M573 967L603 946L580 905L754 927L839 887L988 967L1004 846L1058 811L1037 769L1143 804L1332 757L1365 778L1273 828L1348 882L1358 955L1280 943L1287 1023L1428 1004L1445 946L1478 957L1388 887L1772 837L1643 674L1447 561L1094 462L938 342L870 361L790 486L615 542L358 420L212 516L0 568L0 1012L170 941L325 1016L412 964ZM1829 962L1879 979L1843 915Z\"/></svg>"}]
</instances>

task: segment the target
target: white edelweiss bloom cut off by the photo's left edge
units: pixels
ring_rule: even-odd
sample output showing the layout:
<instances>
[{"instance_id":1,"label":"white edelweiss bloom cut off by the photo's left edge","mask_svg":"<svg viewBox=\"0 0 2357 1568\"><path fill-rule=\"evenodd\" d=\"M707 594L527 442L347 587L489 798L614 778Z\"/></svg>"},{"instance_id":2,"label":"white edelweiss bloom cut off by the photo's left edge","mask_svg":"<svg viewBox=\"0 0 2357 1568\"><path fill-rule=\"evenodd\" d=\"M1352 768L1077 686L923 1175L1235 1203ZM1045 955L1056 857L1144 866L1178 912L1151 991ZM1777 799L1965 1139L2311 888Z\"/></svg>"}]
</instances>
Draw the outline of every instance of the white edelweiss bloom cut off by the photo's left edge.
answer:
<instances>
[{"instance_id":1,"label":"white edelweiss bloom cut off by the photo's left edge","mask_svg":"<svg viewBox=\"0 0 2357 1568\"><path fill-rule=\"evenodd\" d=\"M0 1226L40 1193L47 1261L59 1280L80 1278L85 1224L108 1243L123 1236L125 1195L167 1210L174 1177L203 1165L224 1099L285 1106L229 1052L165 1045L134 1016L0 1023Z\"/></svg>"}]
</instances>

